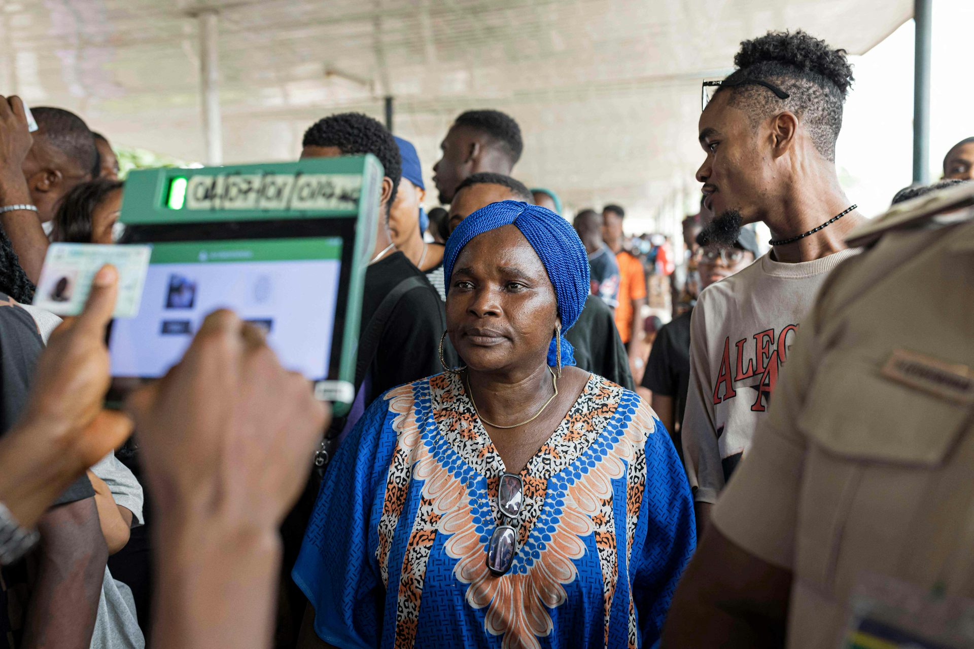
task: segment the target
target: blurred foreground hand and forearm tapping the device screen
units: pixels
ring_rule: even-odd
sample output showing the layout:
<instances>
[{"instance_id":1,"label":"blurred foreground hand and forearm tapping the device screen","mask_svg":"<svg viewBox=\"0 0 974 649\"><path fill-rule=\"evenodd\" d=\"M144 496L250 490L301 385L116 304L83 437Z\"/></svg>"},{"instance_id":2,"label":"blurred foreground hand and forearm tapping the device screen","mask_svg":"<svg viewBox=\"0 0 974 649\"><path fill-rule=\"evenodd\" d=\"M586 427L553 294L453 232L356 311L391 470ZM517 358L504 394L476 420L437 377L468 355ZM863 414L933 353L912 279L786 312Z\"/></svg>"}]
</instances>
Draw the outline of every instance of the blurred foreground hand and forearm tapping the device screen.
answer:
<instances>
[{"instance_id":1,"label":"blurred foreground hand and forearm tapping the device screen","mask_svg":"<svg viewBox=\"0 0 974 649\"><path fill-rule=\"evenodd\" d=\"M153 646L270 647L281 521L308 480L326 407L260 330L216 311L129 409L159 513Z\"/></svg>"}]
</instances>

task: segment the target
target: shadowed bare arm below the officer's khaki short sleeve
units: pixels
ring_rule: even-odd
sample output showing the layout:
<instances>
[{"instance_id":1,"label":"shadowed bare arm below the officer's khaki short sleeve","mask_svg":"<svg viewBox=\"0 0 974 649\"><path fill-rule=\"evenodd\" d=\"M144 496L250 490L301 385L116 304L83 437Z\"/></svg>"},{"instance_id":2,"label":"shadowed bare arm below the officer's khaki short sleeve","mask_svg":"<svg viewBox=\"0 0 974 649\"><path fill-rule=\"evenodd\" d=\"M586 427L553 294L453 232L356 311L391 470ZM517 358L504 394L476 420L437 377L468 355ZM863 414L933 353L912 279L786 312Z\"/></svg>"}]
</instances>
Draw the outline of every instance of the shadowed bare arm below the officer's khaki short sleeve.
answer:
<instances>
[{"instance_id":1,"label":"shadowed bare arm below the officer's khaki short sleeve","mask_svg":"<svg viewBox=\"0 0 974 649\"><path fill-rule=\"evenodd\" d=\"M791 581L711 525L673 595L660 647L783 647Z\"/></svg>"}]
</instances>

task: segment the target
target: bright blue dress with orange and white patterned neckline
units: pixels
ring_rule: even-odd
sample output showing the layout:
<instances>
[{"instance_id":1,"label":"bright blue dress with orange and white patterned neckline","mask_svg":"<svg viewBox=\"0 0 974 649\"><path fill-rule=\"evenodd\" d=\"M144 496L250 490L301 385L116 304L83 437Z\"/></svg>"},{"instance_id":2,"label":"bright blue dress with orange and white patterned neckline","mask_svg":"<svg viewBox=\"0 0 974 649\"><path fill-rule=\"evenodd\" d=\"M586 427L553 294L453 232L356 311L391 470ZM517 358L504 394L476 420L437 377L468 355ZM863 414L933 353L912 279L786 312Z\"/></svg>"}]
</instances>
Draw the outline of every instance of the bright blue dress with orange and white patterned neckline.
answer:
<instances>
[{"instance_id":1,"label":"bright blue dress with orange and white patterned neckline","mask_svg":"<svg viewBox=\"0 0 974 649\"><path fill-rule=\"evenodd\" d=\"M292 572L338 647L649 647L693 554L665 428L591 376L521 478L518 550L486 565L505 471L463 381L394 388L331 465Z\"/></svg>"}]
</instances>

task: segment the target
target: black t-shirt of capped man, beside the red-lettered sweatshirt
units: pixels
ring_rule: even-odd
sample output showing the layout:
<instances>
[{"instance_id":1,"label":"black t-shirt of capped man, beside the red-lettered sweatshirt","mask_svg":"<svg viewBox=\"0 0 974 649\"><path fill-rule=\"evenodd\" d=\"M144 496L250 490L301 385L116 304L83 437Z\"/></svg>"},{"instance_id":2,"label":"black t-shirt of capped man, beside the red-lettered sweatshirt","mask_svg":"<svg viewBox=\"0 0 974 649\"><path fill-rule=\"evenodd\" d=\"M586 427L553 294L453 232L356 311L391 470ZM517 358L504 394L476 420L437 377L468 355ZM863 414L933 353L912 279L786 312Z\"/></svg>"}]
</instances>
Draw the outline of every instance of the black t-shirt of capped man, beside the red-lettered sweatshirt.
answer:
<instances>
[{"instance_id":1,"label":"black t-shirt of capped man, beside the red-lettered sweatshirt","mask_svg":"<svg viewBox=\"0 0 974 649\"><path fill-rule=\"evenodd\" d=\"M643 375L643 387L667 397L673 397L677 427L683 425L683 411L687 405L687 386L690 384L690 316L693 309L673 318L656 334L650 360ZM675 431L670 431L675 435ZM678 438L677 438L678 439ZM679 448L679 447L678 447Z\"/></svg>"}]
</instances>

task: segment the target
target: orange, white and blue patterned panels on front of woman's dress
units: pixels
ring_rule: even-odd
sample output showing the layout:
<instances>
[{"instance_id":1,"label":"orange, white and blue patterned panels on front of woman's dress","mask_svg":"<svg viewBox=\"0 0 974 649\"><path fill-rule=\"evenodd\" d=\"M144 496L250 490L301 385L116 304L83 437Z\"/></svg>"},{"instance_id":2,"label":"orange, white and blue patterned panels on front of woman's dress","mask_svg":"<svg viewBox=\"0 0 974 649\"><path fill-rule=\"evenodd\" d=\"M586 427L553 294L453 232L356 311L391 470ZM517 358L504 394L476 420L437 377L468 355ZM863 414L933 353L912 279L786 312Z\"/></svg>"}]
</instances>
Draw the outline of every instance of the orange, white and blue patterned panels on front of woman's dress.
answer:
<instances>
[{"instance_id":1,"label":"orange, white and blue patterned panels on front of woman's dress","mask_svg":"<svg viewBox=\"0 0 974 649\"><path fill-rule=\"evenodd\" d=\"M639 397L606 379L591 377L555 432L528 462L525 506L519 517L518 552L511 571L490 574L485 563L487 534L497 522L497 469L503 467L490 438L476 420L461 383L439 375L390 393L396 413L397 449L389 470L386 503L379 522L377 559L389 582L393 532L404 511L410 480L423 483L419 509L410 522L401 556L395 644L412 646L426 581L427 560L437 535L443 552L456 560L454 577L468 588L474 609L486 609L485 631L503 634L506 646L540 649L552 631L547 609L567 600L565 587L578 577L576 561L592 539L601 566L605 640L609 641L620 566L627 566L646 481L646 435L655 428L652 411ZM491 470L493 469L493 471ZM537 470L539 477L529 474ZM540 478L544 476L544 478ZM626 482L625 545L613 482ZM546 506L545 506L546 505ZM594 559L594 558L593 558ZM636 618L628 591L628 646L637 645Z\"/></svg>"}]
</instances>

